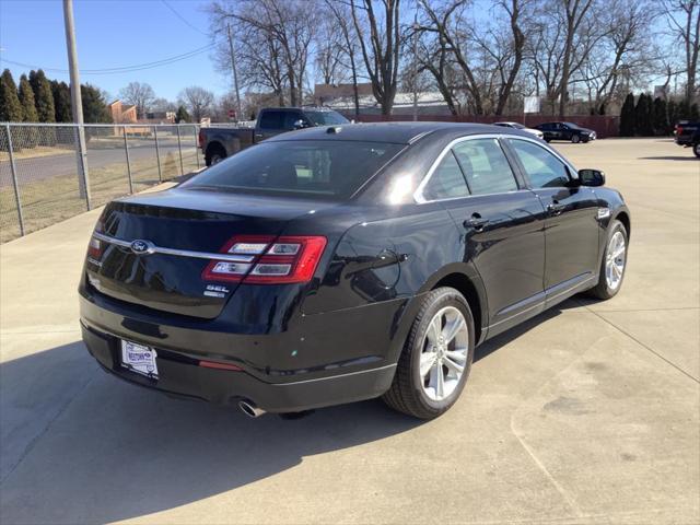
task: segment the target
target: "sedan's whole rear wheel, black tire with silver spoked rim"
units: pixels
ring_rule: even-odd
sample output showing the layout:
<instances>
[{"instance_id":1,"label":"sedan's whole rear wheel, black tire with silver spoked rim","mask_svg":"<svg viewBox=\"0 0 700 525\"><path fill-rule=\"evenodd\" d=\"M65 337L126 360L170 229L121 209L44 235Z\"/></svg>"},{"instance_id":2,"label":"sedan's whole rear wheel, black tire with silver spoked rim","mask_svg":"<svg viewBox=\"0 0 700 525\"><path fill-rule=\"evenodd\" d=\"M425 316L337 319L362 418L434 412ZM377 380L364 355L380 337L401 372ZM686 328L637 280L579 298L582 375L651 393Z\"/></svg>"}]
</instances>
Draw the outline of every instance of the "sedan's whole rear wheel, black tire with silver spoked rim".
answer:
<instances>
[{"instance_id":1,"label":"sedan's whole rear wheel, black tire with silver spoked rim","mask_svg":"<svg viewBox=\"0 0 700 525\"><path fill-rule=\"evenodd\" d=\"M457 290L439 288L425 295L384 402L419 419L447 411L469 376L474 334L471 311Z\"/></svg>"}]
</instances>

